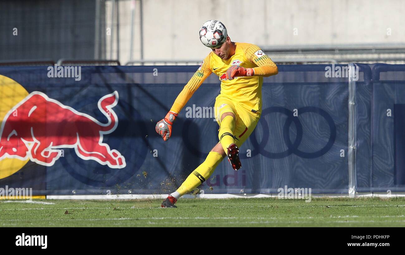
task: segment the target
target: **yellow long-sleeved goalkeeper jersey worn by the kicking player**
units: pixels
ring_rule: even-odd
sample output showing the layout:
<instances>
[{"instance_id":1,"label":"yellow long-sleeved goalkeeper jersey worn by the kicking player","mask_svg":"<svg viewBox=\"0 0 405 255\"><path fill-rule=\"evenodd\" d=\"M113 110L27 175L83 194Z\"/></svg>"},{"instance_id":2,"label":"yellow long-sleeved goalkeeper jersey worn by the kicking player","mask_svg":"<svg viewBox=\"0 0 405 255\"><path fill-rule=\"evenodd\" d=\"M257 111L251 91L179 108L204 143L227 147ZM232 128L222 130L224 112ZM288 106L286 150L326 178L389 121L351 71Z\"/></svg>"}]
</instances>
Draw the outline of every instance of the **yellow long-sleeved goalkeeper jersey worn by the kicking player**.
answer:
<instances>
[{"instance_id":1,"label":"yellow long-sleeved goalkeeper jersey worn by the kicking player","mask_svg":"<svg viewBox=\"0 0 405 255\"><path fill-rule=\"evenodd\" d=\"M203 81L215 73L221 81L220 95L239 103L248 111L260 114L262 111L263 77L278 72L274 62L260 48L250 43L235 43L235 54L227 60L210 52L190 81L184 86L173 103L171 111L179 113ZM225 79L226 70L232 65L253 68L254 75Z\"/></svg>"}]
</instances>

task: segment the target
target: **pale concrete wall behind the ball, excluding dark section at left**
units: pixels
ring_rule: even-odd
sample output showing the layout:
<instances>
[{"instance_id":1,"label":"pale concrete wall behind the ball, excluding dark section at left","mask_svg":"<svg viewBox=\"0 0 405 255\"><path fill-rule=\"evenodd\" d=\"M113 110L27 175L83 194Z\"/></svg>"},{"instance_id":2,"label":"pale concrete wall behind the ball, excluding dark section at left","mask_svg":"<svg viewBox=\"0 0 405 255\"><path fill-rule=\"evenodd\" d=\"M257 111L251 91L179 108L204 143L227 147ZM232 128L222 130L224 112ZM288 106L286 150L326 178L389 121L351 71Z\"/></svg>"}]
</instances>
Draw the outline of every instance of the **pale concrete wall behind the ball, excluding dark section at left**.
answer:
<instances>
[{"instance_id":1,"label":"pale concrete wall behind the ball, excluding dark section at left","mask_svg":"<svg viewBox=\"0 0 405 255\"><path fill-rule=\"evenodd\" d=\"M130 3L119 5L122 63L129 59ZM106 1L107 23L110 7ZM139 0L135 10L133 56L139 59ZM210 50L198 30L209 19L222 21L232 41L262 46L403 43L404 13L403 0L143 0L144 58L203 59Z\"/></svg>"}]
</instances>

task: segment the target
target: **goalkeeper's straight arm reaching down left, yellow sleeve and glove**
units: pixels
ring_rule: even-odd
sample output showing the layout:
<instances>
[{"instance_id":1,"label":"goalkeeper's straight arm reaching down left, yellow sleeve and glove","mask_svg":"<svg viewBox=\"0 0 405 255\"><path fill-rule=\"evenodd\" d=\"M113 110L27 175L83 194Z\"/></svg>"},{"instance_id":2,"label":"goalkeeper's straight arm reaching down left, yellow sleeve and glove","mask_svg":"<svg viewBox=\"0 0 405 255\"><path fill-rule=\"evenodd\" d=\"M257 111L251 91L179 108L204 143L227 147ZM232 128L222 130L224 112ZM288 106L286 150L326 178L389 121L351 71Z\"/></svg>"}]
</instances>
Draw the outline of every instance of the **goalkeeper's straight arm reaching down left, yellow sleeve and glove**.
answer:
<instances>
[{"instance_id":1,"label":"goalkeeper's straight arm reaching down left, yellow sleeve and glove","mask_svg":"<svg viewBox=\"0 0 405 255\"><path fill-rule=\"evenodd\" d=\"M196 92L211 73L210 55L208 55L204 59L200 68L198 68L188 83L184 86L183 90L181 90L170 111L166 114L166 117L156 124L156 132L163 137L164 141L167 141L167 139L171 137L173 122L177 118L177 115L179 115L181 109L183 109L184 105L190 100L194 92Z\"/></svg>"}]
</instances>

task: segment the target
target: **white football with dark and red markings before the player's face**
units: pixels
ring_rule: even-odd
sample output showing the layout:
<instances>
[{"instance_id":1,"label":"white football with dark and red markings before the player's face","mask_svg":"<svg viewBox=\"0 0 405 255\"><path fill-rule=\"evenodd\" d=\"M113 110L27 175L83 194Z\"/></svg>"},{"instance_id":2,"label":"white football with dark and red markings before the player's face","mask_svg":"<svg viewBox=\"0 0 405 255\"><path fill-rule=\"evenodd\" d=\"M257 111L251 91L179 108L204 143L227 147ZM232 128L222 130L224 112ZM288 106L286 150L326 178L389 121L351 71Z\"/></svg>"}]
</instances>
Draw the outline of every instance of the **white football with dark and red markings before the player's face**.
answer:
<instances>
[{"instance_id":1,"label":"white football with dark and red markings before the player's face","mask_svg":"<svg viewBox=\"0 0 405 255\"><path fill-rule=\"evenodd\" d=\"M218 20L206 21L200 28L201 43L211 49L221 47L226 40L226 36L228 36L226 27Z\"/></svg>"}]
</instances>

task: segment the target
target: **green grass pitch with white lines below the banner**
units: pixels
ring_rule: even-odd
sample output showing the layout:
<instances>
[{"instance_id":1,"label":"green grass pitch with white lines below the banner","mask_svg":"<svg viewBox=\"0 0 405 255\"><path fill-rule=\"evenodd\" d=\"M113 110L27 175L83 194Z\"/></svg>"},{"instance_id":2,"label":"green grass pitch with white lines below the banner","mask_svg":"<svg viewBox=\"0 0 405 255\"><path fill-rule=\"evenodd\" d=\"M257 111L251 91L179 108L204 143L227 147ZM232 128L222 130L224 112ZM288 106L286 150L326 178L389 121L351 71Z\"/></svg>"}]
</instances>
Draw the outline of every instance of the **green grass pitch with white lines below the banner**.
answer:
<instances>
[{"instance_id":1,"label":"green grass pitch with white lines below the banner","mask_svg":"<svg viewBox=\"0 0 405 255\"><path fill-rule=\"evenodd\" d=\"M405 227L405 198L0 201L0 227ZM52 203L52 204L49 204Z\"/></svg>"}]
</instances>

